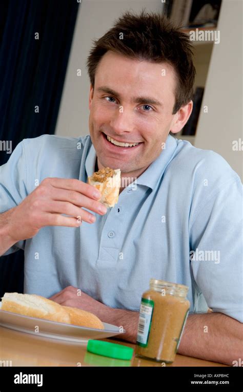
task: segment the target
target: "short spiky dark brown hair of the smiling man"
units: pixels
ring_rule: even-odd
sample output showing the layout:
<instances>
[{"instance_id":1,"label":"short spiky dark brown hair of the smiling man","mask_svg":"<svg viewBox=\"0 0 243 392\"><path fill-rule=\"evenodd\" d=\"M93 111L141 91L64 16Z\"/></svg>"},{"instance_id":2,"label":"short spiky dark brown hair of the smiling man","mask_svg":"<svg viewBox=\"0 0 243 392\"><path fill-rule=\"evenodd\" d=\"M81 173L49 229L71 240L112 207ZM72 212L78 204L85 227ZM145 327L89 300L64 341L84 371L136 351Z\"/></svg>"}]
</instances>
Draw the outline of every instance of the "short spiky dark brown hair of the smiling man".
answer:
<instances>
[{"instance_id":1,"label":"short spiky dark brown hair of the smiling man","mask_svg":"<svg viewBox=\"0 0 243 392\"><path fill-rule=\"evenodd\" d=\"M119 39L120 33L123 33L123 39ZM163 14L146 12L144 9L139 15L126 11L105 35L93 40L93 47L87 59L92 87L97 65L108 50L132 59L172 65L177 78L172 114L192 99L196 73L192 60L192 44L189 36L180 31L179 26L175 27Z\"/></svg>"}]
</instances>

